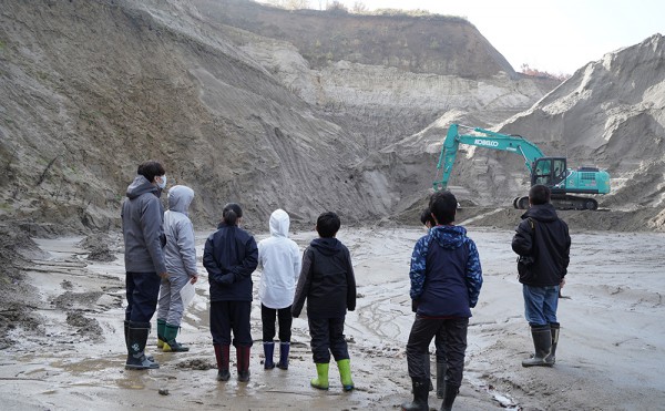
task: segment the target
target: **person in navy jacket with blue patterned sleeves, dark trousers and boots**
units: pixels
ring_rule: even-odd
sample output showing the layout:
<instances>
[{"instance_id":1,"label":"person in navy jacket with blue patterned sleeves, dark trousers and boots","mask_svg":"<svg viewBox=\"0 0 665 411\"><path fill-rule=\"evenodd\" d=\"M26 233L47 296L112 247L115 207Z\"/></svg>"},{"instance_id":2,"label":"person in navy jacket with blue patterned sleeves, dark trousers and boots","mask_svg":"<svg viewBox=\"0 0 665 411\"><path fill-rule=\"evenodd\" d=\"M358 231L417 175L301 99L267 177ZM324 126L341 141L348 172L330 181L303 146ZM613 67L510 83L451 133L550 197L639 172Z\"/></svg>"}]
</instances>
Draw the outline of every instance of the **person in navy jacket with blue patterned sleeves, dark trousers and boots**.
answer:
<instances>
[{"instance_id":1,"label":"person in navy jacket with blue patterned sleeves, dark trousers and boots","mask_svg":"<svg viewBox=\"0 0 665 411\"><path fill-rule=\"evenodd\" d=\"M441 410L451 410L462 383L467 329L471 308L482 286L482 269L475 243L467 229L454 226L457 198L438 192L430 197L436 226L421 237L411 256L411 299L416 320L407 343L407 362L413 384L413 401L402 410L429 410L429 378L422 356L434 336L443 341L446 378Z\"/></svg>"}]
</instances>

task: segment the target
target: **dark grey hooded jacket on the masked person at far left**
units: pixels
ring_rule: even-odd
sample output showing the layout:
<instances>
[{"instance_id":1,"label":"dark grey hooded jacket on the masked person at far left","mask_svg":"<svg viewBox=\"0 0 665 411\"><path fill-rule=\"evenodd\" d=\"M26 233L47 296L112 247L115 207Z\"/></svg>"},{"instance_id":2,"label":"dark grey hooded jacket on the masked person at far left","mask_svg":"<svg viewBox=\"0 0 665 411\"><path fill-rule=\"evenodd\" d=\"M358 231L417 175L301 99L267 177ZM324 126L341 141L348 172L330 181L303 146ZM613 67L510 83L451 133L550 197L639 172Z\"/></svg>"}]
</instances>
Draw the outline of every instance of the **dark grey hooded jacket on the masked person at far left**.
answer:
<instances>
[{"instance_id":1,"label":"dark grey hooded jacket on the masked person at far left","mask_svg":"<svg viewBox=\"0 0 665 411\"><path fill-rule=\"evenodd\" d=\"M142 175L127 187L122 204L122 234L125 245L125 271L166 273L162 244L164 208L160 189Z\"/></svg>"}]
</instances>

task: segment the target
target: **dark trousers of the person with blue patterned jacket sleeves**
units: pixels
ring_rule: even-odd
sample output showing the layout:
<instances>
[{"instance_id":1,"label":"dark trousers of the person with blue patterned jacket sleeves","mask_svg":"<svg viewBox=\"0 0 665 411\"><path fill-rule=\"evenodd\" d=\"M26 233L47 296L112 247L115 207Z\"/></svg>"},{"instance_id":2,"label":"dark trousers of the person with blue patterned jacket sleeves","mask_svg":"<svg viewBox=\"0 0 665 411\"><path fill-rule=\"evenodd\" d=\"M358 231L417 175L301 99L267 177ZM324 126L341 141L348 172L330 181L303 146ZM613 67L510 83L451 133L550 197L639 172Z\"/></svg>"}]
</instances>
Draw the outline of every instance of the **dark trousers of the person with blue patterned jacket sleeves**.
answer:
<instances>
[{"instance_id":1,"label":"dark trousers of the person with blue patterned jacket sleeves","mask_svg":"<svg viewBox=\"0 0 665 411\"><path fill-rule=\"evenodd\" d=\"M416 315L407 343L407 363L409 377L426 379L427 370L422 361L429 351L429 345L434 336L443 341L446 383L460 387L464 370L464 353L467 352L468 318L423 318Z\"/></svg>"}]
</instances>

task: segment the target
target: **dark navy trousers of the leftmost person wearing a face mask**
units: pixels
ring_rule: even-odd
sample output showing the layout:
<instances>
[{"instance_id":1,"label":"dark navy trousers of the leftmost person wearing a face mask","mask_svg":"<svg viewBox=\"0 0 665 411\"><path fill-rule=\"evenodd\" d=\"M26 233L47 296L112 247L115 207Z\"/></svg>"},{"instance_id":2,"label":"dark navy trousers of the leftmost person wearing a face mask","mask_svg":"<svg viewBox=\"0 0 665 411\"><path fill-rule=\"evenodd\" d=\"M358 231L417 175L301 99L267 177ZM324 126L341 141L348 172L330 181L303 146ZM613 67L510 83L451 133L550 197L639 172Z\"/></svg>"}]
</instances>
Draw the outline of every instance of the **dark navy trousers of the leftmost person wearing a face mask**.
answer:
<instances>
[{"instance_id":1,"label":"dark navy trousers of the leftmost person wearing a face mask","mask_svg":"<svg viewBox=\"0 0 665 411\"><path fill-rule=\"evenodd\" d=\"M160 282L156 273L126 273L125 291L127 308L125 320L133 322L150 322L157 308Z\"/></svg>"}]
</instances>

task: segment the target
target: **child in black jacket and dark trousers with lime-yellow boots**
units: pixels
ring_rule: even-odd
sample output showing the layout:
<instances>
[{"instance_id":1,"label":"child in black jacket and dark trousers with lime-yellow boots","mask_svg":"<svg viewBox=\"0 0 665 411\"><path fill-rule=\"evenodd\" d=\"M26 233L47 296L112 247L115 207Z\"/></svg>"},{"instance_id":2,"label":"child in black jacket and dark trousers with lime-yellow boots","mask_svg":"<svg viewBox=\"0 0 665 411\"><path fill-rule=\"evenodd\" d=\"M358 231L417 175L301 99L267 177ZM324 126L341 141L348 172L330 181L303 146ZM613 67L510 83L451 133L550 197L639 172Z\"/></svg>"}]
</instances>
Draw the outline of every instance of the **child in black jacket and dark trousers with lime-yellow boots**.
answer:
<instances>
[{"instance_id":1,"label":"child in black jacket and dark trousers with lime-yellow boots","mask_svg":"<svg viewBox=\"0 0 665 411\"><path fill-rule=\"evenodd\" d=\"M337 361L345 391L354 389L351 363L344 337L347 309L356 309L356 277L349 249L335 236L340 226L335 213L323 213L316 220L319 238L314 239L303 255L291 312L298 318L307 299L307 321L311 337L311 353L317 378L311 387L328 389L330 353Z\"/></svg>"}]
</instances>

